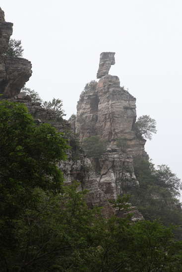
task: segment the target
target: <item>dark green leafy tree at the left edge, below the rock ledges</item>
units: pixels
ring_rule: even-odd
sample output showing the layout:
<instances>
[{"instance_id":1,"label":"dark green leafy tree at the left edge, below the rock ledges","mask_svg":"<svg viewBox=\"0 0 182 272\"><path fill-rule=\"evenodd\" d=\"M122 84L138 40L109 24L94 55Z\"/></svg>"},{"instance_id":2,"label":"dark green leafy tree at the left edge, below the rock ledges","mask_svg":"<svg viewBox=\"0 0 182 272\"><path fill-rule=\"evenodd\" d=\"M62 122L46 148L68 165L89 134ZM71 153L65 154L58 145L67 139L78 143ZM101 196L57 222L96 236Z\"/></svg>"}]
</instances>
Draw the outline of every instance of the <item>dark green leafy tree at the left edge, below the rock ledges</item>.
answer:
<instances>
[{"instance_id":1,"label":"dark green leafy tree at the left edge, below the rock ledges","mask_svg":"<svg viewBox=\"0 0 182 272\"><path fill-rule=\"evenodd\" d=\"M57 163L66 141L49 124L37 127L21 103L0 101L0 254L16 248L14 227L22 209L34 205L33 190L60 192Z\"/></svg>"}]
</instances>

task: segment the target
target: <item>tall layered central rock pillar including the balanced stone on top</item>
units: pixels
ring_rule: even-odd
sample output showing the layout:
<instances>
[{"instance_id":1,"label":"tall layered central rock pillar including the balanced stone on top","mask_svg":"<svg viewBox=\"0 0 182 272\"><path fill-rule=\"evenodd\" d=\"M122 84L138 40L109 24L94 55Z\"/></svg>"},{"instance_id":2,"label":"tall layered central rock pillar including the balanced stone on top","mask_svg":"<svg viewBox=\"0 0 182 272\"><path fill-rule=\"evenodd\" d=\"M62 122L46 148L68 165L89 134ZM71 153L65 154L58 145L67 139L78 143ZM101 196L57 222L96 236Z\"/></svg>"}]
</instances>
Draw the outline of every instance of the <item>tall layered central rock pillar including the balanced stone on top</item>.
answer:
<instances>
[{"instance_id":1,"label":"tall layered central rock pillar including the balanced stone on top","mask_svg":"<svg viewBox=\"0 0 182 272\"><path fill-rule=\"evenodd\" d=\"M75 120L80 142L90 136L108 141L107 152L97 162L100 171L96 174L99 189L108 199L116 199L127 186L138 185L133 157L147 157L145 140L137 138L134 131L136 99L120 87L117 76L108 75L111 64L115 64L114 55L101 53L97 73L100 80L97 86L81 93ZM118 139L125 141L124 150L117 147Z\"/></svg>"}]
</instances>

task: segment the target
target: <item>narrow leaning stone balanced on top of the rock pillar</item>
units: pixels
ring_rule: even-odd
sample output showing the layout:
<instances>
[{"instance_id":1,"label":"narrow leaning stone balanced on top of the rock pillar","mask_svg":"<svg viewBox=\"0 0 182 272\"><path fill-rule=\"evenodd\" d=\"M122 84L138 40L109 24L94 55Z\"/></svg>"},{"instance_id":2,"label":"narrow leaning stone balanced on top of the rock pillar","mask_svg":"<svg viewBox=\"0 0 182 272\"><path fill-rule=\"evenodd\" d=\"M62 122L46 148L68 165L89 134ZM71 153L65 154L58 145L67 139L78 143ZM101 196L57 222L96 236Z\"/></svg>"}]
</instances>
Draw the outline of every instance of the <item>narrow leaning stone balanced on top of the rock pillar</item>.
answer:
<instances>
[{"instance_id":1,"label":"narrow leaning stone balanced on top of the rock pillar","mask_svg":"<svg viewBox=\"0 0 182 272\"><path fill-rule=\"evenodd\" d=\"M115 52L102 52L100 54L99 70L97 72L97 78L100 79L103 76L109 74L111 65L115 64Z\"/></svg>"}]
</instances>

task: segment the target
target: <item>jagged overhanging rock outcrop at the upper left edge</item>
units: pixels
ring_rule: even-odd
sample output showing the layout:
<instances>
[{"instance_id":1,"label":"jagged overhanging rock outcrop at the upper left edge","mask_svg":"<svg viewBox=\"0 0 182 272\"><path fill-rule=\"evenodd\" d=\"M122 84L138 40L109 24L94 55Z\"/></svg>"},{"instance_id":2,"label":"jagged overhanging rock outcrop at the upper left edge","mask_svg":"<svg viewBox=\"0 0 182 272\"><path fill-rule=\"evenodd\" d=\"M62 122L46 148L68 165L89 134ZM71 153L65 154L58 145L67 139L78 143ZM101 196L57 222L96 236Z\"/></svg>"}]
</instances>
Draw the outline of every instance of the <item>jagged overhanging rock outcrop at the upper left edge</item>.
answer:
<instances>
[{"instance_id":1,"label":"jagged overhanging rock outcrop at the upper left edge","mask_svg":"<svg viewBox=\"0 0 182 272\"><path fill-rule=\"evenodd\" d=\"M5 22L0 8L0 94L9 98L18 94L32 74L31 62L5 54L12 35L12 23Z\"/></svg>"}]
</instances>

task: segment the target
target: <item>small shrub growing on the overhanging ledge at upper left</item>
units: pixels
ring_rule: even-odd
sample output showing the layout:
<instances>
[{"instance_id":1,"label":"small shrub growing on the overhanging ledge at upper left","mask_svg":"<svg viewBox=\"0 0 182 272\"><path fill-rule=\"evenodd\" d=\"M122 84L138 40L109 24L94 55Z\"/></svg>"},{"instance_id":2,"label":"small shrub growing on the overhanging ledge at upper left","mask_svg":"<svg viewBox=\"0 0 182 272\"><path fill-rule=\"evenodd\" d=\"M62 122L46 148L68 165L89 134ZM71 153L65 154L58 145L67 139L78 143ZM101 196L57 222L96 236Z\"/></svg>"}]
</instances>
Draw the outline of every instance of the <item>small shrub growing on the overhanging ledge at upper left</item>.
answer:
<instances>
[{"instance_id":1,"label":"small shrub growing on the overhanging ledge at upper left","mask_svg":"<svg viewBox=\"0 0 182 272\"><path fill-rule=\"evenodd\" d=\"M22 57L23 50L21 40L10 39L7 51L4 55L10 57Z\"/></svg>"}]
</instances>

